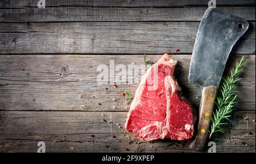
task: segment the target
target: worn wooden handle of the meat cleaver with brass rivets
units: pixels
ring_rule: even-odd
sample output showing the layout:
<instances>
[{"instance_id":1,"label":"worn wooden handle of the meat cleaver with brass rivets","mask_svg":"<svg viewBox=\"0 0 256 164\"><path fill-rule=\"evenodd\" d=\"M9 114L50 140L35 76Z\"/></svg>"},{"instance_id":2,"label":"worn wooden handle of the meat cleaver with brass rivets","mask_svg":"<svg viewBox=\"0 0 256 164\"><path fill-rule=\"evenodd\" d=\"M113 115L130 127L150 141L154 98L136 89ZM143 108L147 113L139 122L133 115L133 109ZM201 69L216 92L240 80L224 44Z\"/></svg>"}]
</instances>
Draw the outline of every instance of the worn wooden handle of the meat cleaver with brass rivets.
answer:
<instances>
[{"instance_id":1,"label":"worn wooden handle of the meat cleaver with brass rivets","mask_svg":"<svg viewBox=\"0 0 256 164\"><path fill-rule=\"evenodd\" d=\"M190 148L196 151L204 149L205 142L208 138L210 118L213 114L214 100L217 96L217 87L204 87L199 107L199 124L197 127L197 135Z\"/></svg>"}]
</instances>

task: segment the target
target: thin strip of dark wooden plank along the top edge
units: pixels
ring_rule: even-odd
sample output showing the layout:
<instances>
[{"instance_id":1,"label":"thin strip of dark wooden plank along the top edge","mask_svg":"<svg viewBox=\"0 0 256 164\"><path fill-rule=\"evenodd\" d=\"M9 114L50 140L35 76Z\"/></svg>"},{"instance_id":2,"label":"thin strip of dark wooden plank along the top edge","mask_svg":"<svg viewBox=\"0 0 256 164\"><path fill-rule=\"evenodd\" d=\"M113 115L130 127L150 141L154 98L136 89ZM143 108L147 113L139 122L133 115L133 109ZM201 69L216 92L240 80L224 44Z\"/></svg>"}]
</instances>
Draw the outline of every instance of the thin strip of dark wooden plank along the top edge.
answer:
<instances>
[{"instance_id":1,"label":"thin strip of dark wooden plank along the top edge","mask_svg":"<svg viewBox=\"0 0 256 164\"><path fill-rule=\"evenodd\" d=\"M22 8L22 7L37 7L38 1L26 0L26 1L1 1L1 8ZM204 6L207 7L208 1L197 0L135 0L135 1L123 1L123 0L111 0L111 1L95 1L95 0L81 0L81 1L46 1L46 7L70 7L70 6L93 6L93 7L183 7L183 6ZM217 6L252 6L255 5L254 0L218 0Z\"/></svg>"}]
</instances>

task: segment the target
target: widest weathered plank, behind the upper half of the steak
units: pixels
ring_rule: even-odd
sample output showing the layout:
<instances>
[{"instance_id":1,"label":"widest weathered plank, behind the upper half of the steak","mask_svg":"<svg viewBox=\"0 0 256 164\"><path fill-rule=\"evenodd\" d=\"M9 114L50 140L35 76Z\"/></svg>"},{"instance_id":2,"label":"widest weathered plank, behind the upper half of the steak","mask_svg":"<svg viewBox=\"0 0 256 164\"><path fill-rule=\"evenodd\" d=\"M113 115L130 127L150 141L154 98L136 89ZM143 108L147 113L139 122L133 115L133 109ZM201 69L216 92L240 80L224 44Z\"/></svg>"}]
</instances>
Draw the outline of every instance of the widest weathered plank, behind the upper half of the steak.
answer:
<instances>
[{"instance_id":1,"label":"widest weathered plank, behind the upper half of the steak","mask_svg":"<svg viewBox=\"0 0 256 164\"><path fill-rule=\"evenodd\" d=\"M152 62L160 57L148 55ZM241 55L231 57L226 70L229 72L240 58ZM245 58L236 109L255 111L255 55ZM201 90L188 84L191 55L176 55L175 59L179 62L176 77L184 96L197 109ZM117 88L97 83L101 73L97 67L106 64L110 68L110 60L115 66L124 64L127 68L131 63L143 64L144 55L0 55L0 110L127 111L129 105L121 93L131 90L134 94L138 83L129 85L126 79L127 83L118 84ZM118 73L115 70L115 76Z\"/></svg>"}]
</instances>

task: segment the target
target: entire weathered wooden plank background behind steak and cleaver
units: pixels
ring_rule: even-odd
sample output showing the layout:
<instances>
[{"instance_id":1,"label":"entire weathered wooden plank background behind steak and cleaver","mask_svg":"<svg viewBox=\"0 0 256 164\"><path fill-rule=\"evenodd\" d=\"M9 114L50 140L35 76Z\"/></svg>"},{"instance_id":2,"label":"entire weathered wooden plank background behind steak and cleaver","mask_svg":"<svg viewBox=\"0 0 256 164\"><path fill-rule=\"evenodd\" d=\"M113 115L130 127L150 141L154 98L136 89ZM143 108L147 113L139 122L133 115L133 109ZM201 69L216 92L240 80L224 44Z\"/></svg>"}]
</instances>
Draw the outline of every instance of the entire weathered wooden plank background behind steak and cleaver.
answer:
<instances>
[{"instance_id":1,"label":"entire weathered wooden plank background behind steak and cleaver","mask_svg":"<svg viewBox=\"0 0 256 164\"><path fill-rule=\"evenodd\" d=\"M197 109L200 89L188 84L188 68L208 1L37 2L0 1L0 152L36 152L38 141L46 152L192 152L188 141L147 143L127 133L121 92L138 84L98 85L96 68L110 59L141 64L144 54L155 62L179 49L176 77ZM250 22L226 67L245 56L239 103L217 152L255 152L255 0L217 7Z\"/></svg>"}]
</instances>

